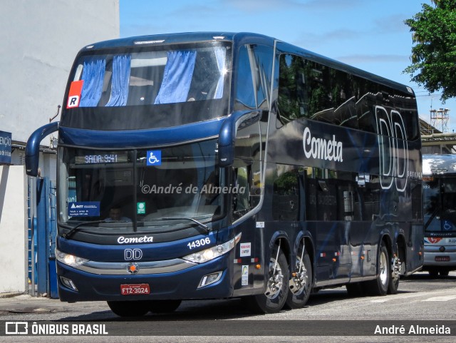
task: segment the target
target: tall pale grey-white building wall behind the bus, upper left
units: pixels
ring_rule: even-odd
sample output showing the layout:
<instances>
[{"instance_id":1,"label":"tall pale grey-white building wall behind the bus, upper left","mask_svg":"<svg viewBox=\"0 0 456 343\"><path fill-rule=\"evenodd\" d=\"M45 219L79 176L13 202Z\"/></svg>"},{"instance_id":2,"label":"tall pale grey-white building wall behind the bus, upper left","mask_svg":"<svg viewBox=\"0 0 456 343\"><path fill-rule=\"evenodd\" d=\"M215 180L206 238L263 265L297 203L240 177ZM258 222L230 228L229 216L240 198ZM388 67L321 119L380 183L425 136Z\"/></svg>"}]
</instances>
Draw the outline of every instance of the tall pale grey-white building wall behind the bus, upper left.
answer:
<instances>
[{"instance_id":1,"label":"tall pale grey-white building wall behind the bus, upper left","mask_svg":"<svg viewBox=\"0 0 456 343\"><path fill-rule=\"evenodd\" d=\"M118 38L119 26L119 0L1 1L0 130L26 142L48 123L76 53Z\"/></svg>"}]
</instances>

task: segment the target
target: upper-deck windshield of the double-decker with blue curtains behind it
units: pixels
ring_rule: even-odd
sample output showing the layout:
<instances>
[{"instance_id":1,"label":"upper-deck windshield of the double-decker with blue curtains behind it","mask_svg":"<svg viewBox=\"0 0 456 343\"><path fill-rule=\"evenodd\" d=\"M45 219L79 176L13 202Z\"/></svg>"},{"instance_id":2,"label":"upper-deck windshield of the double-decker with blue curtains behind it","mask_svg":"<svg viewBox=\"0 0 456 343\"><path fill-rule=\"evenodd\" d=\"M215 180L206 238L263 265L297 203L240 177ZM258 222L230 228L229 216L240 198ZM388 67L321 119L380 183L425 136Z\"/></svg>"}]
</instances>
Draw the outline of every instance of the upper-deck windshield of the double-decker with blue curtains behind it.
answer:
<instances>
[{"instance_id":1,"label":"upper-deck windshield of the double-decker with blue curtains behind it","mask_svg":"<svg viewBox=\"0 0 456 343\"><path fill-rule=\"evenodd\" d=\"M83 52L61 125L99 130L163 128L226 116L231 46L199 42Z\"/></svg>"}]
</instances>

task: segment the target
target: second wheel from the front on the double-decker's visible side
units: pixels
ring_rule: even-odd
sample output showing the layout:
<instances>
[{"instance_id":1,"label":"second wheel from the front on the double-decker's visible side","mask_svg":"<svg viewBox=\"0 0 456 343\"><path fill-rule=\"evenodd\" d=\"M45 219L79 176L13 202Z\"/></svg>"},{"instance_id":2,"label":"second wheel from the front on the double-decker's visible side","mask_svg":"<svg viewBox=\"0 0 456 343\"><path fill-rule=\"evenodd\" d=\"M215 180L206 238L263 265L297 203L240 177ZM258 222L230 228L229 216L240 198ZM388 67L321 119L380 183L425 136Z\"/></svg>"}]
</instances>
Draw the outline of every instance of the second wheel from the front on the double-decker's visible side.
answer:
<instances>
[{"instance_id":1,"label":"second wheel from the front on the double-decker's visible side","mask_svg":"<svg viewBox=\"0 0 456 343\"><path fill-rule=\"evenodd\" d=\"M296 277L291 277L289 281L289 291L285 302L285 307L288 309L300 309L304 307L311 295L313 275L311 258L304 251L303 263L301 263L301 254L302 250L296 256Z\"/></svg>"}]
</instances>

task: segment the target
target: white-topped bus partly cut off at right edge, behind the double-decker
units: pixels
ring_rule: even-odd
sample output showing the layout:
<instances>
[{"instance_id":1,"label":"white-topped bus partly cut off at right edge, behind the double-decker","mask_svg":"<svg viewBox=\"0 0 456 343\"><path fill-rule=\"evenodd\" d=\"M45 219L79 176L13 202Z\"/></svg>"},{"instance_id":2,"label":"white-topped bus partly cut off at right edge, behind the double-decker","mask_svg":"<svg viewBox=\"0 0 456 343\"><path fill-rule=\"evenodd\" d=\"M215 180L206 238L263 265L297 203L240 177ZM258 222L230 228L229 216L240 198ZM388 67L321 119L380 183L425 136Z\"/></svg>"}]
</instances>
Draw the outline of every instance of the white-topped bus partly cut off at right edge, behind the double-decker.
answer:
<instances>
[{"instance_id":1,"label":"white-topped bus partly cut off at right edge, behind the double-decker","mask_svg":"<svg viewBox=\"0 0 456 343\"><path fill-rule=\"evenodd\" d=\"M423 155L425 262L432 277L456 270L456 155Z\"/></svg>"}]
</instances>

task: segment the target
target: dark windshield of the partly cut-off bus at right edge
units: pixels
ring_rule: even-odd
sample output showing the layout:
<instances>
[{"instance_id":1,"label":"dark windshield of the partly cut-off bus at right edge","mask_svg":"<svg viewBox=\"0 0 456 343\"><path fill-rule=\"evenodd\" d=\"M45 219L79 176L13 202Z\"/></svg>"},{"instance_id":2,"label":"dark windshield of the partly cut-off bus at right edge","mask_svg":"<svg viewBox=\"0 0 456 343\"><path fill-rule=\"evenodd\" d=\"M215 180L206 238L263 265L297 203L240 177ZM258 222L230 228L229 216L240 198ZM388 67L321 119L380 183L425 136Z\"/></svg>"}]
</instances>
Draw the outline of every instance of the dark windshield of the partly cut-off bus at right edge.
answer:
<instances>
[{"instance_id":1,"label":"dark windshield of the partly cut-off bus at right edge","mask_svg":"<svg viewBox=\"0 0 456 343\"><path fill-rule=\"evenodd\" d=\"M456 177L423 177L425 231L456 231Z\"/></svg>"}]
</instances>

